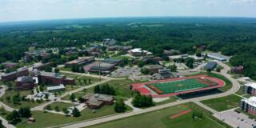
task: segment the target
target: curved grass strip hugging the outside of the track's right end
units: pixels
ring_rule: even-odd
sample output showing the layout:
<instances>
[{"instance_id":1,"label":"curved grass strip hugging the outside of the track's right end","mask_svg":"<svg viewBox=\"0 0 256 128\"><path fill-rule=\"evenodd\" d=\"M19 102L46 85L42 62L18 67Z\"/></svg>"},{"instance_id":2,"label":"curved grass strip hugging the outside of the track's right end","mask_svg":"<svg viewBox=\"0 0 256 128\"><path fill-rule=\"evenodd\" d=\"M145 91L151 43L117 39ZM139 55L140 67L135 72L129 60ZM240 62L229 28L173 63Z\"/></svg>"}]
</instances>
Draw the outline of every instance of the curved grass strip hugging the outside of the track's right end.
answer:
<instances>
[{"instance_id":1,"label":"curved grass strip hugging the outside of the track's right end","mask_svg":"<svg viewBox=\"0 0 256 128\"><path fill-rule=\"evenodd\" d=\"M194 76L194 75L202 75L202 74L207 74L209 77L219 78L219 79L222 79L224 82L226 82L226 85L225 85L225 86L222 86L222 87L220 88L220 90L227 91L227 90L230 90L230 88L232 87L232 82L230 82L229 79L225 78L225 77L222 76L221 74L200 72L200 73L198 73L198 74L186 75L186 77Z\"/></svg>"}]
</instances>

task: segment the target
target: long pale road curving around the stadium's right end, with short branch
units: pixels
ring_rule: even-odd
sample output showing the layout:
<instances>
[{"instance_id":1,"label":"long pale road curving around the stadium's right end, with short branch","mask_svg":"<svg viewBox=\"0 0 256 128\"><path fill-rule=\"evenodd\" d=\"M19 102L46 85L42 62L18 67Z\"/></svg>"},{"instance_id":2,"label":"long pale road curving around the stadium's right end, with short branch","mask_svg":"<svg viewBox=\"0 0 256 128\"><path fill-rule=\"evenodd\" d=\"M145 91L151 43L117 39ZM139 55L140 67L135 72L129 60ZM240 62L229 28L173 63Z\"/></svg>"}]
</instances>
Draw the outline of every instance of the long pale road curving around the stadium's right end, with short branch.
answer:
<instances>
[{"instance_id":1,"label":"long pale road curving around the stadium's right end, with short branch","mask_svg":"<svg viewBox=\"0 0 256 128\"><path fill-rule=\"evenodd\" d=\"M208 95L205 97L199 97L199 98L190 98L190 99L186 99L186 100L182 100L182 101L177 101L177 102L171 102L171 103L167 103L161 106L154 106L154 107L150 107L141 111L132 111L130 113L126 113L126 114L118 114L118 115L114 115L114 116L109 116L106 118L98 118L98 119L94 119L94 120L90 120L90 121L84 121L84 122L78 122L78 123L70 123L68 124L69 126L63 126L63 128L70 128L70 127L84 127L84 126L92 126L92 125L96 125L102 122L110 122L110 121L114 121L120 118L127 118L130 116L134 116L137 114L145 114L154 110L160 110L166 107L170 107L170 106L176 106L182 103L186 103L186 102L195 102L197 103L199 106L202 106L203 108L205 108L206 110L210 110L211 112L213 112L214 114L218 114L218 112L216 110L211 109L208 106L203 105L201 102L202 100L207 100L207 99L212 99L212 98L221 98L221 97L225 97L228 96L230 94L235 93L236 91L239 90L240 85L239 83L230 76L230 74L226 74L228 70L230 70L229 66L226 66L226 64L223 64L222 62L218 62L218 64L220 66L223 66L223 70L220 73L217 74L222 74L223 76L225 76L226 78L230 79L230 82L233 83L233 86L230 90L221 93L221 94L212 94L212 95ZM58 126L59 127L59 126Z\"/></svg>"}]
</instances>

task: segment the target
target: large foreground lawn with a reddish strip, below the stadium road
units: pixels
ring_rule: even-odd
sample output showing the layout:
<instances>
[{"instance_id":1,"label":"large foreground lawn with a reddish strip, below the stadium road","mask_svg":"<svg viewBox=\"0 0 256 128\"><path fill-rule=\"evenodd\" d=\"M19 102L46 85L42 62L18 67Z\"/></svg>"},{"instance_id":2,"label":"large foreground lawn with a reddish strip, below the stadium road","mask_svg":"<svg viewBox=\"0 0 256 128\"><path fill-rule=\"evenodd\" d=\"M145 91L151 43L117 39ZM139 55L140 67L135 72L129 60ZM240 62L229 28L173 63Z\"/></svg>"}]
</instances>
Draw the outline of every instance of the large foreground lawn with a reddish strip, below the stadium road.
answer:
<instances>
[{"instance_id":1,"label":"large foreground lawn with a reddish strip, below the stadium road","mask_svg":"<svg viewBox=\"0 0 256 128\"><path fill-rule=\"evenodd\" d=\"M200 111L203 114L203 118L193 120L192 112L190 112L178 118L170 119L170 116L190 109ZM146 114L139 114L130 118L90 126L90 128L212 128L213 126L216 128L224 128L224 126L212 119L210 113L206 110L202 110L202 108L193 103L186 103L184 105L172 106Z\"/></svg>"}]
</instances>

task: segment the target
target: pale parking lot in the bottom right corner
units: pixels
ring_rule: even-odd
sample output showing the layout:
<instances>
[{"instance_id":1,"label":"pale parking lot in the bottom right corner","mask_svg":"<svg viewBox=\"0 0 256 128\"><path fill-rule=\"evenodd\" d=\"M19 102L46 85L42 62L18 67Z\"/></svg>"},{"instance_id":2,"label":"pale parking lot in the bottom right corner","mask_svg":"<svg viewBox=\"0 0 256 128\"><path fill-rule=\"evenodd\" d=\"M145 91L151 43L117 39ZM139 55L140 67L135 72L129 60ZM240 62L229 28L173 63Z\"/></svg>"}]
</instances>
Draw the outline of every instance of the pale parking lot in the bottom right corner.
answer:
<instances>
[{"instance_id":1,"label":"pale parking lot in the bottom right corner","mask_svg":"<svg viewBox=\"0 0 256 128\"><path fill-rule=\"evenodd\" d=\"M223 122L228 122L232 124L233 127L239 128L254 128L256 126L256 121L249 118L246 114L235 112L234 110L227 110L224 112L214 114L216 118L221 118Z\"/></svg>"}]
</instances>

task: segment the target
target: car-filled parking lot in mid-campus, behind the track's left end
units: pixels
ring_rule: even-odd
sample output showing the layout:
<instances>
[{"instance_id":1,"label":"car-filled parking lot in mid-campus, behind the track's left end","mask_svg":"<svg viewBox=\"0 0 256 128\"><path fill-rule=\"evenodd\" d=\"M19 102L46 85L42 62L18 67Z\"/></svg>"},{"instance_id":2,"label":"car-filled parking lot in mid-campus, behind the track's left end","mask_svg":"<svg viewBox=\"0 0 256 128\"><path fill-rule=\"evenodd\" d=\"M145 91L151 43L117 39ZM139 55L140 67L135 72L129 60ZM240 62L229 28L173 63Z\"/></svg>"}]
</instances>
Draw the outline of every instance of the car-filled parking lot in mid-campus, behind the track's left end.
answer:
<instances>
[{"instance_id":1,"label":"car-filled parking lot in mid-campus, behind the track's left end","mask_svg":"<svg viewBox=\"0 0 256 128\"><path fill-rule=\"evenodd\" d=\"M118 70L114 70L110 74L110 77L129 77L130 75L139 75L139 74L141 74L141 68L126 66L126 67L119 68Z\"/></svg>"}]
</instances>

